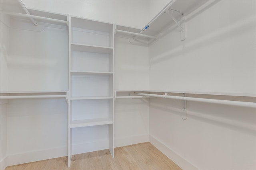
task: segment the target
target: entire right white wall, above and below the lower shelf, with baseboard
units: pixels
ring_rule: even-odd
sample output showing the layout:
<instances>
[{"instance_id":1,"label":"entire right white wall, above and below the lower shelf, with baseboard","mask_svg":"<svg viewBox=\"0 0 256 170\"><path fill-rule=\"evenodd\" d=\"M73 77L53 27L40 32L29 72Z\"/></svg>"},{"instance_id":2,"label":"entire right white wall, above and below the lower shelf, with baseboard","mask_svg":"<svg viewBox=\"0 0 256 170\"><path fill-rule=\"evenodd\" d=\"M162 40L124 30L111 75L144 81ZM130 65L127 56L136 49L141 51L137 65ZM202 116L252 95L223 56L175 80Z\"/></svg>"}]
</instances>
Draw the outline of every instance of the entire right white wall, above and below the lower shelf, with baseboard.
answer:
<instances>
[{"instance_id":1,"label":"entire right white wall, above and below the lower shelf, with baseboard","mask_svg":"<svg viewBox=\"0 0 256 170\"><path fill-rule=\"evenodd\" d=\"M256 2L212 1L187 17L185 41L174 29L149 47L150 89L255 94ZM256 109L187 102L186 120L181 109L150 99L150 142L181 168L256 168Z\"/></svg>"}]
</instances>

